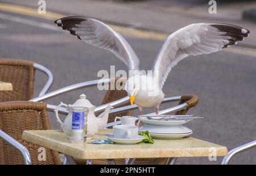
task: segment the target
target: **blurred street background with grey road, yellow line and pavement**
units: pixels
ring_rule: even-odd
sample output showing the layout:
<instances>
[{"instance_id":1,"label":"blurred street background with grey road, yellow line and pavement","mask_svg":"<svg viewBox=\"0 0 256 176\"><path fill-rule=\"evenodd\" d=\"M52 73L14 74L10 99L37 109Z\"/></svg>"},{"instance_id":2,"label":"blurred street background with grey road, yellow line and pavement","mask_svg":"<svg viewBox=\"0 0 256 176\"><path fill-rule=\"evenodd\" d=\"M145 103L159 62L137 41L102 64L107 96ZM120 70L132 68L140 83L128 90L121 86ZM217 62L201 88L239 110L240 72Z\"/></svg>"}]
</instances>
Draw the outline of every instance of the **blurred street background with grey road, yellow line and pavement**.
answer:
<instances>
[{"instance_id":1,"label":"blurred street background with grey road, yellow line and pavement","mask_svg":"<svg viewBox=\"0 0 256 176\"><path fill-rule=\"evenodd\" d=\"M38 14L38 1L0 1L0 58L34 61L54 75L49 91L82 81L99 79L99 70L127 70L112 53L86 45L55 27L63 16L87 16L111 24L131 44L141 60L141 69L151 70L164 38L191 23L230 23L250 30L237 46L218 53L188 57L174 67L164 85L166 96L194 93L199 104L189 114L203 120L187 127L192 136L233 149L256 137L256 1L217 1L217 14L210 14L209 1L201 0L46 0L46 14ZM36 73L35 96L46 76ZM80 89L48 99L73 104L85 93L94 105L105 95L97 87ZM161 109L174 104L163 104ZM146 109L149 113L155 109ZM139 112L134 111L134 115ZM55 114L49 114L59 128ZM256 164L256 149L237 154L230 164ZM220 164L208 158L178 158L176 164Z\"/></svg>"}]
</instances>

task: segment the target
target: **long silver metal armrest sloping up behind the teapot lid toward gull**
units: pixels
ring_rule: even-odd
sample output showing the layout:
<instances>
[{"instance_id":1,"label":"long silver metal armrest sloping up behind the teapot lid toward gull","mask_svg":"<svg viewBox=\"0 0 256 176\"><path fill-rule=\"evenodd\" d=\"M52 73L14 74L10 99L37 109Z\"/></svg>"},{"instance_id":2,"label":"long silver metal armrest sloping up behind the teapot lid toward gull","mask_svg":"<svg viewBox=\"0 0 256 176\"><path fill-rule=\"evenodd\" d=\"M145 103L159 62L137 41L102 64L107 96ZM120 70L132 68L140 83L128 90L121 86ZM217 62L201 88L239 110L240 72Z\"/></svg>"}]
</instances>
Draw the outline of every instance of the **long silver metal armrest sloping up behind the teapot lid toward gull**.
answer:
<instances>
[{"instance_id":1,"label":"long silver metal armrest sloping up behind the teapot lid toward gull","mask_svg":"<svg viewBox=\"0 0 256 176\"><path fill-rule=\"evenodd\" d=\"M94 85L98 85L98 84L102 84L102 83L109 83L109 82L110 82L110 79L97 79L97 80L85 81L82 83L77 83L77 84L73 84L73 85L69 85L67 87L57 89L56 91L46 93L46 95L32 98L29 101L42 101L42 100L46 100L47 98L51 98L51 97L60 95L61 93L73 91L73 90L84 88L84 87L90 87L90 86L94 86Z\"/></svg>"}]
</instances>

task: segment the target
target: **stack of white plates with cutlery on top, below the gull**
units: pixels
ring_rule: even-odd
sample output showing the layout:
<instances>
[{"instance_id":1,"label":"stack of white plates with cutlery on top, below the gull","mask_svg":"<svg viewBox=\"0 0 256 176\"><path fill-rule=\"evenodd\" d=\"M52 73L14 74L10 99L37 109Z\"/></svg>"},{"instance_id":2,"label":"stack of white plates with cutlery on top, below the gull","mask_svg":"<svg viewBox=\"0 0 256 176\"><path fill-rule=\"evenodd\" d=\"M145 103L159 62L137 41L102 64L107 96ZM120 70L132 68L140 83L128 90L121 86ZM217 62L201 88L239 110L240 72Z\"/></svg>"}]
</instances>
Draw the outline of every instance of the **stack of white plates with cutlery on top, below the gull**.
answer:
<instances>
[{"instance_id":1,"label":"stack of white plates with cutlery on top, below the gull","mask_svg":"<svg viewBox=\"0 0 256 176\"><path fill-rule=\"evenodd\" d=\"M180 139L191 135L192 130L183 125L195 118L200 118L192 115L170 115L168 117L140 115L138 117L142 121L139 131L148 131L154 139Z\"/></svg>"}]
</instances>

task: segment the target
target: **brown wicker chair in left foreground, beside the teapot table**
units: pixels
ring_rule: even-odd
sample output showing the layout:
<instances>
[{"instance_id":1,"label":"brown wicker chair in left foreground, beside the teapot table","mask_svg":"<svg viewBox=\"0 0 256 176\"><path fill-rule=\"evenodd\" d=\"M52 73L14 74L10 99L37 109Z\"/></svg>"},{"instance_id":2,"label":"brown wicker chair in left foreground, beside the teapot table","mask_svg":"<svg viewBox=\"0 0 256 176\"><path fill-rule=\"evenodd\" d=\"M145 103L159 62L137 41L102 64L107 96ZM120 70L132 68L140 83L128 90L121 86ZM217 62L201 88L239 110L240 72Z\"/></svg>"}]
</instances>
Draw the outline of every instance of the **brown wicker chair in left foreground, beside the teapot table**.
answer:
<instances>
[{"instance_id":1,"label":"brown wicker chair in left foreground, beside the teapot table","mask_svg":"<svg viewBox=\"0 0 256 176\"><path fill-rule=\"evenodd\" d=\"M46 148L46 161L39 161L42 146L21 139L24 130L51 129L47 104L28 101L0 102L0 128L28 149L32 164L61 164L58 152L48 148ZM24 164L22 154L2 139L0 139L0 164Z\"/></svg>"}]
</instances>

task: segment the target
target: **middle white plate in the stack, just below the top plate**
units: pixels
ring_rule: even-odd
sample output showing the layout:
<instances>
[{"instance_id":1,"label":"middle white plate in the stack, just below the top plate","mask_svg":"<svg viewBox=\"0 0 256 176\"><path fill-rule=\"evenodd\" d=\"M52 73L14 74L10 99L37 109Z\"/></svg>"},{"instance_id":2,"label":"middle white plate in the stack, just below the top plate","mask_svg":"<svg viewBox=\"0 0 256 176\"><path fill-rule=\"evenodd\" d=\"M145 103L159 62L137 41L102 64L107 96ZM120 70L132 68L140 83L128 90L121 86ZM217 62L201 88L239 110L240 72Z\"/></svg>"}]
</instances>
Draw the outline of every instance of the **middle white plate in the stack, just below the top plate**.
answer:
<instances>
[{"instance_id":1,"label":"middle white plate in the stack, just below the top plate","mask_svg":"<svg viewBox=\"0 0 256 176\"><path fill-rule=\"evenodd\" d=\"M142 124L139 127L139 131L148 131L150 133L158 134L187 134L192 132L191 129L184 126L155 126Z\"/></svg>"}]
</instances>

